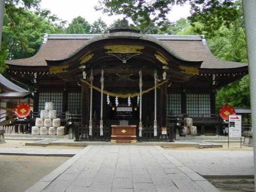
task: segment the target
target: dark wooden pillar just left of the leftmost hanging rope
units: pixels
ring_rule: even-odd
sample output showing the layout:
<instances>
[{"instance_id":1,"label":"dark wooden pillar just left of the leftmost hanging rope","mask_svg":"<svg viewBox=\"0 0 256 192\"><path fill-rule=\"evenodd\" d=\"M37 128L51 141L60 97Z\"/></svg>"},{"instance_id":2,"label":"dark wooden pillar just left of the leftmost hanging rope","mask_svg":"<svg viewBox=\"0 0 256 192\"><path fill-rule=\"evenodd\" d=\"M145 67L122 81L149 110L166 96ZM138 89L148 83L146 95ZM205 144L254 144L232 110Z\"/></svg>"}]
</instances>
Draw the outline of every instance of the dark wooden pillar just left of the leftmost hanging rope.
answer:
<instances>
[{"instance_id":1,"label":"dark wooden pillar just left of the leftmost hanging rope","mask_svg":"<svg viewBox=\"0 0 256 192\"><path fill-rule=\"evenodd\" d=\"M82 117L81 124L89 125L89 112L90 112L90 89L86 83L82 83Z\"/></svg>"}]
</instances>

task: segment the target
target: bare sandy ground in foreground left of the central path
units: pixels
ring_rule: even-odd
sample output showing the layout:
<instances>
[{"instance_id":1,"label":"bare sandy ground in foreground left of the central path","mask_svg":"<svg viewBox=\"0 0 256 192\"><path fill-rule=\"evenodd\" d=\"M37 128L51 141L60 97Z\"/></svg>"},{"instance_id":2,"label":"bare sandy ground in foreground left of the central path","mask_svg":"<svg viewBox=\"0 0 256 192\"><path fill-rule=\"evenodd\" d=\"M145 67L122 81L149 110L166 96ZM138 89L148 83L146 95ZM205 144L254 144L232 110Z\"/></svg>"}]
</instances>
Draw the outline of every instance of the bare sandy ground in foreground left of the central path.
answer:
<instances>
[{"instance_id":1,"label":"bare sandy ground in foreground left of the central path","mask_svg":"<svg viewBox=\"0 0 256 192\"><path fill-rule=\"evenodd\" d=\"M0 192L24 192L68 159L0 155Z\"/></svg>"}]
</instances>

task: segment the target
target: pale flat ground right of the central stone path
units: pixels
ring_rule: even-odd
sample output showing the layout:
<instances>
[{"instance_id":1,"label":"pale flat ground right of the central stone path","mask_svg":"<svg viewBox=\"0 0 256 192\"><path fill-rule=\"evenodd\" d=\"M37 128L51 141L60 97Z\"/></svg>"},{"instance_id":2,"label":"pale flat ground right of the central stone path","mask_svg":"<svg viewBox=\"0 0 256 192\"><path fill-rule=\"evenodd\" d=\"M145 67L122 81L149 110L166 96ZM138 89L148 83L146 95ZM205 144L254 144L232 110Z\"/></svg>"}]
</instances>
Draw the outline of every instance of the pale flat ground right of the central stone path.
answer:
<instances>
[{"instance_id":1,"label":"pale flat ground right of the central stone path","mask_svg":"<svg viewBox=\"0 0 256 192\"><path fill-rule=\"evenodd\" d=\"M253 151L165 151L200 175L254 175Z\"/></svg>"}]
</instances>

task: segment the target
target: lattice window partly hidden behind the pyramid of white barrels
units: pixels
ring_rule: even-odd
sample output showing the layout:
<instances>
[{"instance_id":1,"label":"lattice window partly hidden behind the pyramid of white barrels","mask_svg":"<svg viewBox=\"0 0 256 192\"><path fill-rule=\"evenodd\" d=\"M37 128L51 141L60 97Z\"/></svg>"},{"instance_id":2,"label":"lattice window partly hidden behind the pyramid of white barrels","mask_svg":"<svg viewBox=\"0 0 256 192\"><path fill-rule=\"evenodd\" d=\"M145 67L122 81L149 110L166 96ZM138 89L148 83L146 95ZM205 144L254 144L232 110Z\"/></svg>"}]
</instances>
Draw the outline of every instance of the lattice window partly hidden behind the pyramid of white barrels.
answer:
<instances>
[{"instance_id":1,"label":"lattice window partly hidden behind the pyramid of white barrels","mask_svg":"<svg viewBox=\"0 0 256 192\"><path fill-rule=\"evenodd\" d=\"M57 111L58 114L62 113L62 93L51 93L51 92L42 92L39 93L39 106L38 110L44 110L45 102L53 102L53 109Z\"/></svg>"}]
</instances>

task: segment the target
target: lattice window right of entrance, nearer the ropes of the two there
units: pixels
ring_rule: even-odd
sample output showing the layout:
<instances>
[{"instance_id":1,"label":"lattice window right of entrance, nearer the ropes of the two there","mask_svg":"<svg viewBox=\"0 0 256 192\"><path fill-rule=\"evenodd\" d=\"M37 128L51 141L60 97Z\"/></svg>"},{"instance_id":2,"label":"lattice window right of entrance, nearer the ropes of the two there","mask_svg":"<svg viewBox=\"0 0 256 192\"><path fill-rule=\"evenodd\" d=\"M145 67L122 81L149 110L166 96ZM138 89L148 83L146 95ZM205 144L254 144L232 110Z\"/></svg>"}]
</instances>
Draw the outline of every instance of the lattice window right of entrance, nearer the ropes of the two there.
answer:
<instances>
[{"instance_id":1,"label":"lattice window right of entrance, nearer the ropes of the two there","mask_svg":"<svg viewBox=\"0 0 256 192\"><path fill-rule=\"evenodd\" d=\"M181 94L167 95L167 115L181 113Z\"/></svg>"}]
</instances>

